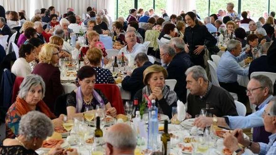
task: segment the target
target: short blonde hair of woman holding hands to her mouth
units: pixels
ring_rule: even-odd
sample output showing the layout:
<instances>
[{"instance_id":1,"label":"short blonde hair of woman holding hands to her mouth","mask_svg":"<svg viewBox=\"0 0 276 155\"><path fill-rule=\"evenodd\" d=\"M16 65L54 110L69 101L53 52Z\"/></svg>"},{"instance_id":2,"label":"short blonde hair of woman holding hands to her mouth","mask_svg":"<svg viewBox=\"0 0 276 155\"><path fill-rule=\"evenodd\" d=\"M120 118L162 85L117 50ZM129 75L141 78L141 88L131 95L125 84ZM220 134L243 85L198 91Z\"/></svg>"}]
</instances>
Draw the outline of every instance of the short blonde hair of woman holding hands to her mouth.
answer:
<instances>
[{"instance_id":1,"label":"short blonde hair of woman holding hands to her mouth","mask_svg":"<svg viewBox=\"0 0 276 155\"><path fill-rule=\"evenodd\" d=\"M145 85L148 85L148 80L151 78L151 75L153 73L159 73L159 72L162 72L163 75L164 75L164 79L167 78L167 75L168 75L168 72L167 70L160 66L160 65L151 65L149 66L148 68L146 68L146 70L144 70L143 72L143 82Z\"/></svg>"}]
</instances>

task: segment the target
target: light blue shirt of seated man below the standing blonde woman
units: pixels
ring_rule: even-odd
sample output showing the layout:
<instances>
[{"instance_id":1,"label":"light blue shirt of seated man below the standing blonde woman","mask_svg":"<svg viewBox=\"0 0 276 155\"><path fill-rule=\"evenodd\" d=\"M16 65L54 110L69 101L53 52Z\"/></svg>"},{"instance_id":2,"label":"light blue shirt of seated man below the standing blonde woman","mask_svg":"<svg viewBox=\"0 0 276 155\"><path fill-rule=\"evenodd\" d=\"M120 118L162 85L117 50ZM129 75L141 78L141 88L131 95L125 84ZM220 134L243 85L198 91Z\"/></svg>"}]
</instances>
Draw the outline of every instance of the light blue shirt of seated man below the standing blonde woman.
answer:
<instances>
[{"instance_id":1,"label":"light blue shirt of seated man below the standing blonde woman","mask_svg":"<svg viewBox=\"0 0 276 155\"><path fill-rule=\"evenodd\" d=\"M241 55L235 57L229 51L222 54L217 68L217 75L219 82L231 83L236 82L238 75L247 76L249 67L243 69L238 64L247 57L243 52Z\"/></svg>"}]
</instances>

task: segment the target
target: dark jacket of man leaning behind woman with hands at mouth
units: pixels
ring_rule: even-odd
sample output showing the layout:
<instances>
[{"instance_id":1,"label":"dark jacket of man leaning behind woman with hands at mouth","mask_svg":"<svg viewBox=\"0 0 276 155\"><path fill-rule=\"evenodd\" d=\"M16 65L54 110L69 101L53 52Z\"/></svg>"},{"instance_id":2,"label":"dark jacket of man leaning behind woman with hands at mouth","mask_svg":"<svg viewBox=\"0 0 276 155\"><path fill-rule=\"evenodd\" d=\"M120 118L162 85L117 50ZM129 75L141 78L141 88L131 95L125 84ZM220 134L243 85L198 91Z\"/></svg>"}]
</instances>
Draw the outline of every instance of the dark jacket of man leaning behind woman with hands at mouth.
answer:
<instances>
[{"instance_id":1,"label":"dark jacket of man leaning behind woman with hands at mouth","mask_svg":"<svg viewBox=\"0 0 276 155\"><path fill-rule=\"evenodd\" d=\"M143 72L148 66L151 65L151 62L146 61L143 66L133 70L131 76L126 76L122 81L123 89L131 92L131 98L133 98L138 90L145 86L143 83Z\"/></svg>"}]
</instances>

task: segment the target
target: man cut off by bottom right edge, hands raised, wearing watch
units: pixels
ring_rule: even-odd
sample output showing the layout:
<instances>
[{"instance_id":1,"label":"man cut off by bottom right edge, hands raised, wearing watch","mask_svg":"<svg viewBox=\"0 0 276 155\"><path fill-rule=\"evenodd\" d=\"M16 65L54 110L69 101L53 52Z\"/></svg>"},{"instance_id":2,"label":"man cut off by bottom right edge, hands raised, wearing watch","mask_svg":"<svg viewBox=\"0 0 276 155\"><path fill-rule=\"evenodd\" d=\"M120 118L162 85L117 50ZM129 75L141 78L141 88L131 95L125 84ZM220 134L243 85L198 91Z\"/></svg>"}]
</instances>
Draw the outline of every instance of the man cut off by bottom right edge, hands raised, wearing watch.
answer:
<instances>
[{"instance_id":1,"label":"man cut off by bottom right edge, hands raised, wearing watch","mask_svg":"<svg viewBox=\"0 0 276 155\"><path fill-rule=\"evenodd\" d=\"M265 108L262 114L264 128L267 132L272 133L269 136L269 143L263 142L252 142L243 137L243 132L241 129L236 129L233 132L226 133L224 139L224 145L226 148L230 149L231 152L236 152L237 155L247 155L248 153L242 153L239 147L240 143L244 147L249 148L253 153L260 155L272 155L276 154L276 97L273 97L268 106ZM249 153L252 154L252 153Z\"/></svg>"}]
</instances>

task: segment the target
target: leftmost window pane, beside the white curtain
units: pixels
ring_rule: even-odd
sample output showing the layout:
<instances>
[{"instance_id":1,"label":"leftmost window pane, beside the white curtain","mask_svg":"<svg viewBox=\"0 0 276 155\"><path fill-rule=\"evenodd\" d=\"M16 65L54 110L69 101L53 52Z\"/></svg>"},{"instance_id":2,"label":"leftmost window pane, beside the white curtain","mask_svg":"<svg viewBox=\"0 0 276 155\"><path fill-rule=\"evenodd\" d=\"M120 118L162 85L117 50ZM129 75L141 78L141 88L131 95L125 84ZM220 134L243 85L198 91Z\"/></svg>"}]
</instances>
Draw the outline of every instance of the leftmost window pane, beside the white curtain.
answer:
<instances>
[{"instance_id":1,"label":"leftmost window pane, beside the white curtain","mask_svg":"<svg viewBox=\"0 0 276 155\"><path fill-rule=\"evenodd\" d=\"M134 8L134 0L118 0L118 17L125 19L129 15L129 10Z\"/></svg>"}]
</instances>

